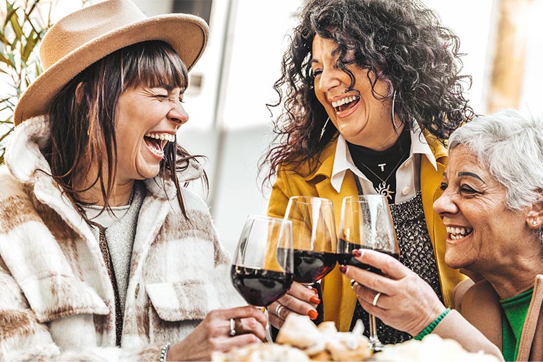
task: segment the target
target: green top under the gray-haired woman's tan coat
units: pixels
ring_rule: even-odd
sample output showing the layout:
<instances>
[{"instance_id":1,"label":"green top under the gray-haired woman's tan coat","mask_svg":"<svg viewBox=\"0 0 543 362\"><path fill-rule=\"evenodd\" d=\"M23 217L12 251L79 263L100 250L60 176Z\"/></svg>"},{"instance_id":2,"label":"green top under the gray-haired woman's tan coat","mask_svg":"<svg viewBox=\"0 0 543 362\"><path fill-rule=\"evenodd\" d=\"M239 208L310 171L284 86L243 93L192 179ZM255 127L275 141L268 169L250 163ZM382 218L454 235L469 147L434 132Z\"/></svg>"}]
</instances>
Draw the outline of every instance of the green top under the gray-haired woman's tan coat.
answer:
<instances>
[{"instance_id":1,"label":"green top under the gray-haired woman's tan coat","mask_svg":"<svg viewBox=\"0 0 543 362\"><path fill-rule=\"evenodd\" d=\"M503 357L505 361L516 361L518 345L524 319L528 313L528 307L532 299L533 288L507 299L500 299L505 314L502 317L503 331Z\"/></svg>"}]
</instances>

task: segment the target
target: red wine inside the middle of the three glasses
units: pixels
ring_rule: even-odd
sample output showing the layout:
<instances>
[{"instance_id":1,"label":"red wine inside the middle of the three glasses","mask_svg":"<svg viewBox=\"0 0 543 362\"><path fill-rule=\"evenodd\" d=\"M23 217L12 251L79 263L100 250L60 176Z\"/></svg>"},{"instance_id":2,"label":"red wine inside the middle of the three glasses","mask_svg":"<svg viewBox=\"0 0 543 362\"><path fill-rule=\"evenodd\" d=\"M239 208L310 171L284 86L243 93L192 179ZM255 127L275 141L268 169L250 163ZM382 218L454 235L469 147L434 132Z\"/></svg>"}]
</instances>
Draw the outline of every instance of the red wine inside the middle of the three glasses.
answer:
<instances>
[{"instance_id":1,"label":"red wine inside the middle of the three glasses","mask_svg":"<svg viewBox=\"0 0 543 362\"><path fill-rule=\"evenodd\" d=\"M282 248L278 248L278 259L282 253ZM294 281L313 284L332 271L336 260L336 253L294 249Z\"/></svg>"}]
</instances>

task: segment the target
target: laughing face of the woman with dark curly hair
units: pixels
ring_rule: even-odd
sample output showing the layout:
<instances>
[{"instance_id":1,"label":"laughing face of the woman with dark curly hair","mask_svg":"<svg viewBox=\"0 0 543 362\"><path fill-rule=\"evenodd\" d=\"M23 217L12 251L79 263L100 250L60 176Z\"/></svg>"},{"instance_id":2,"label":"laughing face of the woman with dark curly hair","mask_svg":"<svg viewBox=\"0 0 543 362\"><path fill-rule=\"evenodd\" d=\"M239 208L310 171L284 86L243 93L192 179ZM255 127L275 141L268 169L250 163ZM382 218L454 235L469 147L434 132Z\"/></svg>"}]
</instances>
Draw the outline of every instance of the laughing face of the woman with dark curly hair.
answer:
<instances>
[{"instance_id":1,"label":"laughing face of the woman with dark curly hair","mask_svg":"<svg viewBox=\"0 0 543 362\"><path fill-rule=\"evenodd\" d=\"M355 85L347 91L351 78L337 67L336 49L335 41L315 35L311 58L315 95L348 142L373 150L389 148L398 137L390 120L392 100L375 98L370 82L372 73L354 63L347 67L355 76ZM388 92L383 80L378 80L374 89L377 95Z\"/></svg>"}]
</instances>

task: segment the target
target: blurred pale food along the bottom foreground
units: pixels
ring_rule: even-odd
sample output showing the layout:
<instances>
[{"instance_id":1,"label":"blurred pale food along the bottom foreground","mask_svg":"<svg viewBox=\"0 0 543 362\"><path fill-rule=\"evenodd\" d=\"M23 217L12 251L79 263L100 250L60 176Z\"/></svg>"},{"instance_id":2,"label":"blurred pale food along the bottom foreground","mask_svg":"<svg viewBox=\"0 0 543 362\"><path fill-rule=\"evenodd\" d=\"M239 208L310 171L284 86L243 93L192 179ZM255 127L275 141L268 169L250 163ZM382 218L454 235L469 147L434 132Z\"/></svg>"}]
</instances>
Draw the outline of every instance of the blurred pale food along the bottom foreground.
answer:
<instances>
[{"instance_id":1,"label":"blurred pale food along the bottom foreground","mask_svg":"<svg viewBox=\"0 0 543 362\"><path fill-rule=\"evenodd\" d=\"M331 321L315 326L309 317L291 313L279 330L276 343L254 343L214 353L212 361L498 361L483 352L467 352L457 341L438 335L428 335L422 341L387 345L372 355L363 332L362 321L358 321L351 332L338 332Z\"/></svg>"}]
</instances>

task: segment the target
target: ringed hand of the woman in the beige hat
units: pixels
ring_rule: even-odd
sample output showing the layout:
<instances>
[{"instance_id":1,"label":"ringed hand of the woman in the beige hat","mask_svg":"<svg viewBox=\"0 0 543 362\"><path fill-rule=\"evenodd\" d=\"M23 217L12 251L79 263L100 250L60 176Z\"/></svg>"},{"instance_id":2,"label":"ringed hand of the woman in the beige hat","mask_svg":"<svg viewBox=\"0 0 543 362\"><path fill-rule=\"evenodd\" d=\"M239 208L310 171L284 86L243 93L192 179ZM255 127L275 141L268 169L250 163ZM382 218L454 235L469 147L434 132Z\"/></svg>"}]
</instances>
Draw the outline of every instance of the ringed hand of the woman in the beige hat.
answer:
<instances>
[{"instance_id":1,"label":"ringed hand of the woman in the beige hat","mask_svg":"<svg viewBox=\"0 0 543 362\"><path fill-rule=\"evenodd\" d=\"M230 319L238 320L237 335L230 335ZM241 324L240 324L241 322ZM267 317L252 306L212 310L182 341L168 350L167 361L211 361L212 352L227 352L266 337Z\"/></svg>"}]
</instances>

